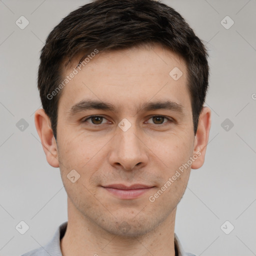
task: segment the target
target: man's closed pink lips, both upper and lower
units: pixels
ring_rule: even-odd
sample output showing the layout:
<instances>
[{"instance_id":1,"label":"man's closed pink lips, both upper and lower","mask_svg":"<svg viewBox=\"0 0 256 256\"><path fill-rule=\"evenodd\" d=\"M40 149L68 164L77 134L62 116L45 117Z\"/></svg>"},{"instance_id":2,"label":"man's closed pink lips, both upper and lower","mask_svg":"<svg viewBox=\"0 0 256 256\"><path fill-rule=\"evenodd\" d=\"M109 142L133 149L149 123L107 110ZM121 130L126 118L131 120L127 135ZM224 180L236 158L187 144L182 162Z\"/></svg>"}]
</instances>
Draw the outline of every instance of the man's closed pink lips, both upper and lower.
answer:
<instances>
[{"instance_id":1,"label":"man's closed pink lips, both upper and lower","mask_svg":"<svg viewBox=\"0 0 256 256\"><path fill-rule=\"evenodd\" d=\"M129 186L124 184L111 184L102 187L120 199L134 199L147 192L154 186L144 184L133 184Z\"/></svg>"}]
</instances>

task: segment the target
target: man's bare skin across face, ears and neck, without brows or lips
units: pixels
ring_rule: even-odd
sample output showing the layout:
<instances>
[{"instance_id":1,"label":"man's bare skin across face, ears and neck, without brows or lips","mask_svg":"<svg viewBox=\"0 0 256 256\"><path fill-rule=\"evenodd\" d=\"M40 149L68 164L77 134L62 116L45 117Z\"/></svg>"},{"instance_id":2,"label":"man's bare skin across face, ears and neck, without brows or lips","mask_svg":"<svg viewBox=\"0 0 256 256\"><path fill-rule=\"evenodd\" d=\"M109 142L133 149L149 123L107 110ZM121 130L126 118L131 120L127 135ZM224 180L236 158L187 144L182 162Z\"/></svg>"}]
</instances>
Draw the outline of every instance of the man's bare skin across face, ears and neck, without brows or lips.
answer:
<instances>
[{"instance_id":1,"label":"man's bare skin across face, ears and neck, without brows or lips","mask_svg":"<svg viewBox=\"0 0 256 256\"><path fill-rule=\"evenodd\" d=\"M175 66L183 73L176 81L169 75ZM63 69L63 75L72 70ZM210 109L203 107L194 135L186 77L183 60L157 44L101 52L62 89L57 142L43 109L35 112L46 159L60 168L67 192L68 225L60 242L63 256L175 254L176 206L190 168L204 162L211 122ZM118 111L90 109L68 115L72 105L88 97L109 102ZM155 100L181 104L183 115L168 109L137 111L139 104ZM101 123L82 122L90 115L104 118ZM152 115L173 121L154 120ZM118 127L123 118L131 124L127 131ZM149 196L197 151L200 156L150 202ZM80 175L74 183L67 178L72 169ZM138 198L120 199L102 187L113 183L154 187Z\"/></svg>"}]
</instances>

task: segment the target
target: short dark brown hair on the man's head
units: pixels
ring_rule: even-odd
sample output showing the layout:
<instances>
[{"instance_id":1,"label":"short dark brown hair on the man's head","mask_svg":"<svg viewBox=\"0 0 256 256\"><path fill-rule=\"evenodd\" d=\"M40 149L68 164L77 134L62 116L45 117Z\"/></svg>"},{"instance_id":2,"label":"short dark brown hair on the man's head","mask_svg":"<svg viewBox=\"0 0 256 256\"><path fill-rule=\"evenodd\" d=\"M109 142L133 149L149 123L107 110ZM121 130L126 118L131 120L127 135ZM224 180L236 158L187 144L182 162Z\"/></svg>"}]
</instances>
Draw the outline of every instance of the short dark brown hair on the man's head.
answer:
<instances>
[{"instance_id":1,"label":"short dark brown hair on the man's head","mask_svg":"<svg viewBox=\"0 0 256 256\"><path fill-rule=\"evenodd\" d=\"M183 17L156 0L95 0L70 12L49 33L41 50L38 89L56 138L57 109L61 91L49 95L61 83L65 66L75 56L159 43L181 56L187 67L194 134L208 87L207 52ZM79 63L80 63L79 62Z\"/></svg>"}]
</instances>

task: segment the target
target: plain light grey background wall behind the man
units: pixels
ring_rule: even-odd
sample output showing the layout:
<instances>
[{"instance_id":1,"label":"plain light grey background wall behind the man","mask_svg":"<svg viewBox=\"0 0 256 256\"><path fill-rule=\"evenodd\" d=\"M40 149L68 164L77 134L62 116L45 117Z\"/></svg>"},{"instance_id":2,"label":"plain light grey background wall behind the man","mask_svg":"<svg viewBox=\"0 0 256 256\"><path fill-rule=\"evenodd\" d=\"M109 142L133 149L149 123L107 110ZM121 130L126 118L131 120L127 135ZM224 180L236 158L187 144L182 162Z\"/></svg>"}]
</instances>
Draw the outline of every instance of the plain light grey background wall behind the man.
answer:
<instances>
[{"instance_id":1,"label":"plain light grey background wall behind the man","mask_svg":"<svg viewBox=\"0 0 256 256\"><path fill-rule=\"evenodd\" d=\"M162 2L180 12L210 55L209 144L204 165L191 170L175 232L198 255L256 255L256 0ZM59 169L45 159L33 114L41 106L36 78L43 42L85 3L0 0L0 255L44 245L67 220ZM21 15L29 20L23 30L15 24ZM226 15L234 21L229 29L220 23ZM16 127L21 118L29 124L23 131ZM228 131L221 127L226 118L234 124ZM15 229L21 220L29 225L23 235ZM228 235L220 229L226 220L234 225Z\"/></svg>"}]
</instances>

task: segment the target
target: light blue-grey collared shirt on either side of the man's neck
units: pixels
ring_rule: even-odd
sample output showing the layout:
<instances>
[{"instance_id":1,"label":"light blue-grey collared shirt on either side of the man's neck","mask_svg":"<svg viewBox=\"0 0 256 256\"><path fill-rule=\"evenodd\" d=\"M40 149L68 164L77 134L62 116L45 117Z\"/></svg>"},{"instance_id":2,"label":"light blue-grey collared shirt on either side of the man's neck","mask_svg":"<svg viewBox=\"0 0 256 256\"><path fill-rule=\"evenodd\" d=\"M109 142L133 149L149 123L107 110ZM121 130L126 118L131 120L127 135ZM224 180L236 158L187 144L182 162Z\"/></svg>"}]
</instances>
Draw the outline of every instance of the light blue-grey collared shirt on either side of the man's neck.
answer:
<instances>
[{"instance_id":1,"label":"light blue-grey collared shirt on either side of the man's neck","mask_svg":"<svg viewBox=\"0 0 256 256\"><path fill-rule=\"evenodd\" d=\"M54 233L52 239L44 246L30 250L21 256L63 256L60 250L60 240L66 231L67 221L63 222ZM185 252L180 241L174 233L175 256L196 256L195 254Z\"/></svg>"}]
</instances>

